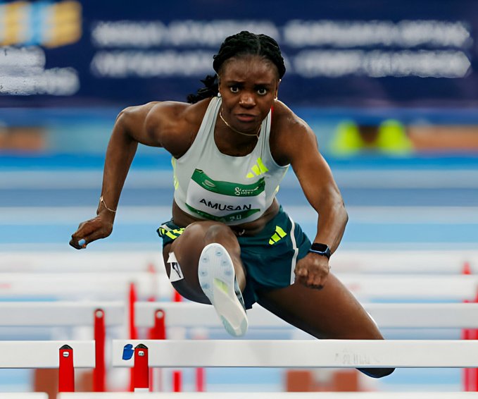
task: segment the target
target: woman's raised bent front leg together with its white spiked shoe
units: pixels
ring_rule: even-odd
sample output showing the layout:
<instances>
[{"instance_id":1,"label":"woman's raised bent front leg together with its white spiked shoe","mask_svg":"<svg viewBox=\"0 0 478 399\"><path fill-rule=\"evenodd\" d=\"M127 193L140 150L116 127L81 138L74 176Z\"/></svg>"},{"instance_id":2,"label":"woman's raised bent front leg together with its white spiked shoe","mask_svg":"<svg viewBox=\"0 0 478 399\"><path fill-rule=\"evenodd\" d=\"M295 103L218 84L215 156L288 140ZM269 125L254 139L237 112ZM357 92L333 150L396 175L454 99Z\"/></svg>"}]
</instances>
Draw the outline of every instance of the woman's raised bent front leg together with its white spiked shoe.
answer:
<instances>
[{"instance_id":1,"label":"woman's raised bent front leg together with its white spiked shoe","mask_svg":"<svg viewBox=\"0 0 478 399\"><path fill-rule=\"evenodd\" d=\"M248 321L241 291L246 274L231 228L210 221L192 223L163 252L168 256L174 252L175 266L184 276L172 283L178 292L189 300L210 303L229 333L244 335Z\"/></svg>"}]
</instances>

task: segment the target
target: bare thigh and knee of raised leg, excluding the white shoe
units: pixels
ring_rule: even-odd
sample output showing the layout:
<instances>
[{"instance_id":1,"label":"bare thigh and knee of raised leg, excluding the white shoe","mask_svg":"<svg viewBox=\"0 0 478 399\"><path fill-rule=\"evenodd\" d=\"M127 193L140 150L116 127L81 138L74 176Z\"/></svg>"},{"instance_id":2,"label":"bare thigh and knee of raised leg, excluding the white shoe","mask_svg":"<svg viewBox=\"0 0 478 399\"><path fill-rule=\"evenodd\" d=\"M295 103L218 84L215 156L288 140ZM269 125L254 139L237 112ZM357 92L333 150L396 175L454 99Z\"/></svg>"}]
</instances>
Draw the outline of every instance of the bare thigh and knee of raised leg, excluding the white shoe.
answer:
<instances>
[{"instance_id":1,"label":"bare thigh and knee of raised leg, excluding the white shoe","mask_svg":"<svg viewBox=\"0 0 478 399\"><path fill-rule=\"evenodd\" d=\"M214 221L191 223L176 240L164 247L163 258L166 272L170 276L168 258L170 252L174 252L184 278L175 281L172 285L182 296L194 302L210 303L199 285L198 276L199 257L203 248L210 243L219 243L225 247L234 264L239 288L244 290L246 286L246 274L241 262L241 248L231 228L224 223Z\"/></svg>"}]
</instances>

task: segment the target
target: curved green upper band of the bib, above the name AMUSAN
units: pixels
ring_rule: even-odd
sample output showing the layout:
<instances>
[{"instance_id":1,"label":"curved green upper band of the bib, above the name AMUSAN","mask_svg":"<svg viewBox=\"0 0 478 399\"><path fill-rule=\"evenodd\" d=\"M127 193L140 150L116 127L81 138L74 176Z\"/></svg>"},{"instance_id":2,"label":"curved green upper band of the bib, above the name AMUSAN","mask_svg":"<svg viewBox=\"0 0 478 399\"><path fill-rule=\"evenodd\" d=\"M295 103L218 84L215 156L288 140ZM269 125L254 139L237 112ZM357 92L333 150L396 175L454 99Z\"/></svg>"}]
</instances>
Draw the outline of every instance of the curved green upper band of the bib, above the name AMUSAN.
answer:
<instances>
[{"instance_id":1,"label":"curved green upper band of the bib, above the name AMUSAN","mask_svg":"<svg viewBox=\"0 0 478 399\"><path fill-rule=\"evenodd\" d=\"M228 181L213 180L201 169L195 169L191 179L205 190L231 197L256 197L265 189L264 178L260 178L256 183L252 184L230 183Z\"/></svg>"}]
</instances>

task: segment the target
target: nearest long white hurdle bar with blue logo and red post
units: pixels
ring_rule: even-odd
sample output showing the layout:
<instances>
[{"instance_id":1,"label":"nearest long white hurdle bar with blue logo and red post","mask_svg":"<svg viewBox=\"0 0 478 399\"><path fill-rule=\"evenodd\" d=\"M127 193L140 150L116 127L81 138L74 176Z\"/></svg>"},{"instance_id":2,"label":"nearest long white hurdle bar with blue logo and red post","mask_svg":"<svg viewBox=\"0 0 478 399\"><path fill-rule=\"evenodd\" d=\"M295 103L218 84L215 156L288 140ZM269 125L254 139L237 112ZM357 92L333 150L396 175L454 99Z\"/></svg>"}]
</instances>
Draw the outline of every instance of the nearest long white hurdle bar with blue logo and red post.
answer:
<instances>
[{"instance_id":1,"label":"nearest long white hurdle bar with blue logo and red post","mask_svg":"<svg viewBox=\"0 0 478 399\"><path fill-rule=\"evenodd\" d=\"M407 368L478 366L471 340L113 340L113 367L149 389L156 367Z\"/></svg>"}]
</instances>

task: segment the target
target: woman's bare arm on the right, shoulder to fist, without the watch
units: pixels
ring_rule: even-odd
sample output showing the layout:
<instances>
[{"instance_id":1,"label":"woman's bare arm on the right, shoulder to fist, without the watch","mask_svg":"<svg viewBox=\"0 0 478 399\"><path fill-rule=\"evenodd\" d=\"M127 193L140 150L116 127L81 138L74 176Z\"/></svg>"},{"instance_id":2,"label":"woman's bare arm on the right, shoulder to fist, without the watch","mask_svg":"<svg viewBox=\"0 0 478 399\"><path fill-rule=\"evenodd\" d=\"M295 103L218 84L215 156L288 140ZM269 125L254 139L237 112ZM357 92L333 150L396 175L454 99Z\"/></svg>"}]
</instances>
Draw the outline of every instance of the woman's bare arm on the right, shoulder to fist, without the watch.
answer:
<instances>
[{"instance_id":1,"label":"woman's bare arm on the right, shoulder to fist, without the watch","mask_svg":"<svg viewBox=\"0 0 478 399\"><path fill-rule=\"evenodd\" d=\"M313 241L337 250L348 221L344 201L332 172L319 152L315 133L291 111L282 118L276 143L281 163L289 162L310 205L317 211L317 233ZM309 253L296 264L296 281L322 288L329 274L327 257Z\"/></svg>"}]
</instances>

